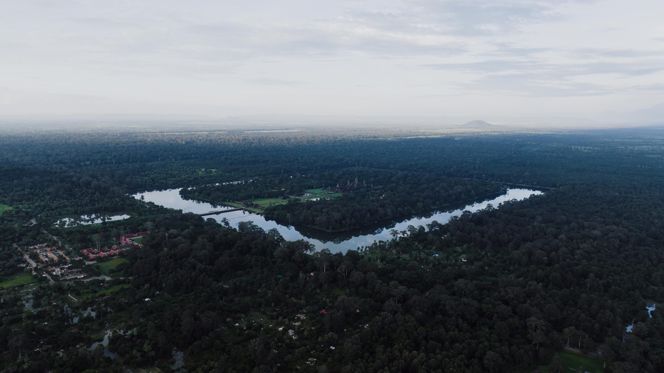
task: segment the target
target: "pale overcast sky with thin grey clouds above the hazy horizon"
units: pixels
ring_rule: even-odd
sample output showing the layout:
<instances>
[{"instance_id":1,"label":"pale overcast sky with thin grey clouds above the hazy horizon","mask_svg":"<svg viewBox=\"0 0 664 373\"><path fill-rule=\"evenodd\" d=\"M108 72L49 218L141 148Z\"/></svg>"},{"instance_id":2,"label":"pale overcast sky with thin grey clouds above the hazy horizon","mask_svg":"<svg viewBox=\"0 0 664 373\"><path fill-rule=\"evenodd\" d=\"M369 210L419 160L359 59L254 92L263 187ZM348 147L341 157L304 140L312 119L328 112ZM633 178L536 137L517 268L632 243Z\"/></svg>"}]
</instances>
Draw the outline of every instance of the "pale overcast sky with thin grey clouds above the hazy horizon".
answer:
<instances>
[{"instance_id":1,"label":"pale overcast sky with thin grey clouds above the hazy horizon","mask_svg":"<svg viewBox=\"0 0 664 373\"><path fill-rule=\"evenodd\" d=\"M5 0L0 115L664 113L663 14L661 0Z\"/></svg>"}]
</instances>

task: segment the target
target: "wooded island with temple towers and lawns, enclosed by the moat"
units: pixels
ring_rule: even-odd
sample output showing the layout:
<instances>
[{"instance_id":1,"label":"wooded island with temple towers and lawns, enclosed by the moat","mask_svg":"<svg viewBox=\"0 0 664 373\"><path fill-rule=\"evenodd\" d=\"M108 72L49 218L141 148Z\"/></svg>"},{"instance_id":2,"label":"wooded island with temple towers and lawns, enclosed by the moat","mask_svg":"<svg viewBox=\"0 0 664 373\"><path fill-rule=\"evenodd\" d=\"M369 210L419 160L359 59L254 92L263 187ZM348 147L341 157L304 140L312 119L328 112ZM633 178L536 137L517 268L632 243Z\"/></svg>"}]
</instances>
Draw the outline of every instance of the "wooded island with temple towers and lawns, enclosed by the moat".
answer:
<instances>
[{"instance_id":1,"label":"wooded island with temple towers and lawns, enclosed by the moat","mask_svg":"<svg viewBox=\"0 0 664 373\"><path fill-rule=\"evenodd\" d=\"M313 200L297 197L311 188L325 194ZM335 190L341 190L341 196ZM497 183L351 167L183 188L180 194L211 202L283 197L288 203L267 204L264 214L321 230L347 230L504 191Z\"/></svg>"}]
</instances>

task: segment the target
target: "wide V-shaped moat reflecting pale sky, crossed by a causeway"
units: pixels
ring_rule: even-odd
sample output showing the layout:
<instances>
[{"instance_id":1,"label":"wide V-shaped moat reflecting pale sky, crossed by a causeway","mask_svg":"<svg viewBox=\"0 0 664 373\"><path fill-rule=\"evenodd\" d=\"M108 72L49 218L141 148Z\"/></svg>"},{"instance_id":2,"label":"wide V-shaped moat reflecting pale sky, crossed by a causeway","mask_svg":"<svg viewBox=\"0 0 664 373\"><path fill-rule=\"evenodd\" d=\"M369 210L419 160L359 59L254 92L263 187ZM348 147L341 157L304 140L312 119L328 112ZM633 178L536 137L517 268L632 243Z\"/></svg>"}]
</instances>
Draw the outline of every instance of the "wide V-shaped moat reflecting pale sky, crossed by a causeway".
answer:
<instances>
[{"instance_id":1,"label":"wide V-shaped moat reflecting pale sky, crossed by a causeway","mask_svg":"<svg viewBox=\"0 0 664 373\"><path fill-rule=\"evenodd\" d=\"M194 212L195 214L228 209L228 207L216 206L199 200L186 200L182 198L179 191L179 188L148 190L133 194L133 197L141 198L143 196L145 202L154 202L164 207L176 208L183 210L183 212ZM323 232L305 226L291 226L288 225L288 222L269 220L262 215L249 214L248 212L244 212L243 214L240 211L208 215L204 216L204 218L213 218L214 220L226 218L232 226L237 226L238 222L250 220L264 230L276 228L289 241L303 239L311 242L317 250L328 248L331 252L347 252L347 250L354 250L360 246L370 245L374 240L390 240L392 238L390 230L392 229L406 230L406 227L409 225L416 227L426 226L426 224L430 224L434 220L444 224L453 216L460 216L464 211L475 212L486 208L489 204L497 207L507 200L523 200L533 194L542 194L542 191L527 188L510 188L505 194L492 196L484 200L477 200L469 204L459 204L439 210L420 212L419 214L384 220L376 222L371 226L364 226L343 232Z\"/></svg>"}]
</instances>

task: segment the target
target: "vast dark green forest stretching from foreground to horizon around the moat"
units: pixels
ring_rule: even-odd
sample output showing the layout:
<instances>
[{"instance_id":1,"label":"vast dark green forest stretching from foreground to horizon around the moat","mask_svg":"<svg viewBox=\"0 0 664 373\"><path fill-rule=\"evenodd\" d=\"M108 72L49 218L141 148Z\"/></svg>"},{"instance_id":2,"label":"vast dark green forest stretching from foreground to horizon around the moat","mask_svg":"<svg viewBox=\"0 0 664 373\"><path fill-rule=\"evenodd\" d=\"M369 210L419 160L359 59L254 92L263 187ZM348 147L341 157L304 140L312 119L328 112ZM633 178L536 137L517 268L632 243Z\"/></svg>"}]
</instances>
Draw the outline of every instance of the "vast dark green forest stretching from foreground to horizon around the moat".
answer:
<instances>
[{"instance_id":1,"label":"vast dark green forest stretching from foreground to horizon around the moat","mask_svg":"<svg viewBox=\"0 0 664 373\"><path fill-rule=\"evenodd\" d=\"M11 208L0 215L1 368L168 372L183 352L189 372L533 372L546 364L555 372L557 354L575 347L601 352L594 359L607 372L660 372L661 307L649 313L646 304L664 301L663 166L659 129L4 133L0 207ZM355 177L380 192L265 213L335 230L485 196L503 183L550 189L345 254L129 196L178 186L224 202ZM210 186L239 179L251 181ZM98 212L131 218L53 225ZM81 248L143 231L142 246L113 267L76 259ZM36 244L61 248L92 279L50 282L46 261L19 267L24 254L37 258L26 251ZM108 345L88 350L109 331Z\"/></svg>"}]
</instances>

